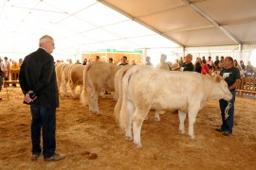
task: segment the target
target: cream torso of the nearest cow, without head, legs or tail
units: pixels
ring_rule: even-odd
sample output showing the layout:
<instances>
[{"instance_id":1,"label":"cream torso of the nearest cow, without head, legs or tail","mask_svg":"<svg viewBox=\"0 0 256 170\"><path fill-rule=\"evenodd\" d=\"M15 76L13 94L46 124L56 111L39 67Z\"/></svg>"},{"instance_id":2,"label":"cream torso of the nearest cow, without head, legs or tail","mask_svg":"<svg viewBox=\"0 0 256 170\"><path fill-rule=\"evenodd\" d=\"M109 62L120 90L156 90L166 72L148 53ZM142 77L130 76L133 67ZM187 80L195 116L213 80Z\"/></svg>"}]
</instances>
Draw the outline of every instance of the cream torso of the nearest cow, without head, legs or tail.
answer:
<instances>
[{"instance_id":1,"label":"cream torso of the nearest cow, without head, legs or tail","mask_svg":"<svg viewBox=\"0 0 256 170\"><path fill-rule=\"evenodd\" d=\"M141 67L129 82L135 103L147 102L155 110L185 109L191 100L206 97L202 76L192 72L170 72Z\"/></svg>"}]
</instances>

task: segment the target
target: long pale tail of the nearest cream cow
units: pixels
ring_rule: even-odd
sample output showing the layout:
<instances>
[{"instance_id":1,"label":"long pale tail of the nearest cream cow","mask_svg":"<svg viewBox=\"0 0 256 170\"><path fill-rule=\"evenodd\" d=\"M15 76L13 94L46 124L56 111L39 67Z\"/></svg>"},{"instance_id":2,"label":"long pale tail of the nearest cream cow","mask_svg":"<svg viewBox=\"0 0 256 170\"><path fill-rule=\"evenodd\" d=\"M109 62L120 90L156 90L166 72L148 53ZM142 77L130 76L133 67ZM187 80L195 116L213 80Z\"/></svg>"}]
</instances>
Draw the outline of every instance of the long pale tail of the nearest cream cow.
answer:
<instances>
[{"instance_id":1,"label":"long pale tail of the nearest cream cow","mask_svg":"<svg viewBox=\"0 0 256 170\"><path fill-rule=\"evenodd\" d=\"M129 69L126 74L122 78L122 103L121 103L121 110L119 114L119 127L122 130L125 130L128 127L129 124L129 116L132 116L132 114L129 114L129 110L127 108L127 102L128 102L128 86L129 86L129 80L131 76L137 71L139 67L133 66L131 69Z\"/></svg>"}]
</instances>

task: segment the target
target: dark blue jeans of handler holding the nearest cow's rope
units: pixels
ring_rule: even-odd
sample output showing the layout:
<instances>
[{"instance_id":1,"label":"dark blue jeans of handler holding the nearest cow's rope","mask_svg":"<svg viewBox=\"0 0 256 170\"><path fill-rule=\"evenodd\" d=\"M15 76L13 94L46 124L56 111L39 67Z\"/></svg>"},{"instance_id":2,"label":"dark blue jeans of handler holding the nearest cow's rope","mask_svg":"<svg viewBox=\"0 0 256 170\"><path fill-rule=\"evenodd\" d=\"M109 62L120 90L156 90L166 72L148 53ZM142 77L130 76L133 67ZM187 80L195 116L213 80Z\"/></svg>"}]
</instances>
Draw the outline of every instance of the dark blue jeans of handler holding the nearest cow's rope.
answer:
<instances>
[{"instance_id":1,"label":"dark blue jeans of handler holding the nearest cow's rope","mask_svg":"<svg viewBox=\"0 0 256 170\"><path fill-rule=\"evenodd\" d=\"M235 90L230 91L232 93L233 98L230 101L231 107L229 109L229 117L225 120L225 109L228 106L228 101L221 99L219 100L221 117L222 117L222 130L229 131L230 133L233 131L233 122L234 122L234 102L235 102Z\"/></svg>"}]
</instances>

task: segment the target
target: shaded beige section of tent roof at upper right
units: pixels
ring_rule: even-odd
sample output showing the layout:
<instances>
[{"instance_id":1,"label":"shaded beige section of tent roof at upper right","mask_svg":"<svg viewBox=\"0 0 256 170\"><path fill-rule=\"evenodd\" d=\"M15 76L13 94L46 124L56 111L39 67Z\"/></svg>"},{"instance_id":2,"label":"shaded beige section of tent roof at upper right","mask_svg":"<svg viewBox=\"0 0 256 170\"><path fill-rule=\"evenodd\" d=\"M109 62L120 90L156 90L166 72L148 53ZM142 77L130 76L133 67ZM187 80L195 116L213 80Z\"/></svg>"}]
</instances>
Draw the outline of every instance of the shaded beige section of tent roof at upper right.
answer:
<instances>
[{"instance_id":1,"label":"shaded beige section of tent roof at upper right","mask_svg":"<svg viewBox=\"0 0 256 170\"><path fill-rule=\"evenodd\" d=\"M101 0L181 46L256 42L255 0Z\"/></svg>"}]
</instances>

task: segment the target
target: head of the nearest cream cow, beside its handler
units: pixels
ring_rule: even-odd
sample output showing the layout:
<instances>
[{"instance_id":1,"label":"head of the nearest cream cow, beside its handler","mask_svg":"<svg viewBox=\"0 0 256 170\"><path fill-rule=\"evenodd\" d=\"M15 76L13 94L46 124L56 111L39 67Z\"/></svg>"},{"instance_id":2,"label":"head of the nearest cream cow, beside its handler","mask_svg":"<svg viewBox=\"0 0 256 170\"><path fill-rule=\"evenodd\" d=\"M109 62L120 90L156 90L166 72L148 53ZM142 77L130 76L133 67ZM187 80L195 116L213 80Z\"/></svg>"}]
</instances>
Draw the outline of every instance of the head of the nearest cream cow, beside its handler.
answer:
<instances>
[{"instance_id":1,"label":"head of the nearest cream cow, beside its handler","mask_svg":"<svg viewBox=\"0 0 256 170\"><path fill-rule=\"evenodd\" d=\"M212 98L231 100L233 95L229 91L229 86L222 76L214 76L214 86L211 91Z\"/></svg>"}]
</instances>

